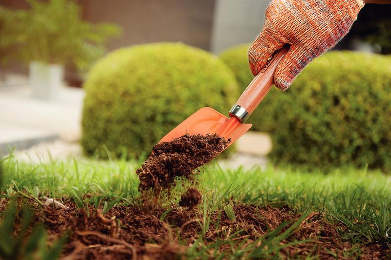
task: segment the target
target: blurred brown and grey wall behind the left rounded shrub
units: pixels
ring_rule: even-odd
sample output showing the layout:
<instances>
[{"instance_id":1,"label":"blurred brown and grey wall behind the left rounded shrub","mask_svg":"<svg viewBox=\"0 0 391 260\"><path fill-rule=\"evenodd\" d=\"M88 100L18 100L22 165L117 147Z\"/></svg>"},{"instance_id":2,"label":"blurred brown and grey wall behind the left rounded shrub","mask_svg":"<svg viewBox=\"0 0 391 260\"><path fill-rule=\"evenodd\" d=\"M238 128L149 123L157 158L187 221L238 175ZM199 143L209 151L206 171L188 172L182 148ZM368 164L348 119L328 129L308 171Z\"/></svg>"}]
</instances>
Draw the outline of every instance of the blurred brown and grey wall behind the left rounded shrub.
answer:
<instances>
[{"instance_id":1,"label":"blurred brown and grey wall behind the left rounded shrub","mask_svg":"<svg viewBox=\"0 0 391 260\"><path fill-rule=\"evenodd\" d=\"M109 49L156 41L182 41L219 52L259 33L268 0L77 0L92 22L114 22L124 34ZM25 0L0 0L27 8Z\"/></svg>"}]
</instances>

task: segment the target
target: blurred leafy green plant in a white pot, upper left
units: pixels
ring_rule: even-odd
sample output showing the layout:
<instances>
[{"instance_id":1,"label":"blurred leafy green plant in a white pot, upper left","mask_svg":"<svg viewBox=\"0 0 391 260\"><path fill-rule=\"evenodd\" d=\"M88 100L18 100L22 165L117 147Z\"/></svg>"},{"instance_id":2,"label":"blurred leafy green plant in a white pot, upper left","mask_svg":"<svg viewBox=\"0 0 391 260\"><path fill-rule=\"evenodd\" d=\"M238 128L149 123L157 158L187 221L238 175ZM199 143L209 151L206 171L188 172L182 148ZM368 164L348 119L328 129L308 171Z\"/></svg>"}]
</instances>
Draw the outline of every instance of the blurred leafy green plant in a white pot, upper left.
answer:
<instances>
[{"instance_id":1,"label":"blurred leafy green plant in a white pot, upper left","mask_svg":"<svg viewBox=\"0 0 391 260\"><path fill-rule=\"evenodd\" d=\"M0 53L5 53L3 61L29 63L32 95L52 99L63 82L64 66L86 71L121 28L83 20L72 0L26 1L31 6L26 10L0 7Z\"/></svg>"}]
</instances>

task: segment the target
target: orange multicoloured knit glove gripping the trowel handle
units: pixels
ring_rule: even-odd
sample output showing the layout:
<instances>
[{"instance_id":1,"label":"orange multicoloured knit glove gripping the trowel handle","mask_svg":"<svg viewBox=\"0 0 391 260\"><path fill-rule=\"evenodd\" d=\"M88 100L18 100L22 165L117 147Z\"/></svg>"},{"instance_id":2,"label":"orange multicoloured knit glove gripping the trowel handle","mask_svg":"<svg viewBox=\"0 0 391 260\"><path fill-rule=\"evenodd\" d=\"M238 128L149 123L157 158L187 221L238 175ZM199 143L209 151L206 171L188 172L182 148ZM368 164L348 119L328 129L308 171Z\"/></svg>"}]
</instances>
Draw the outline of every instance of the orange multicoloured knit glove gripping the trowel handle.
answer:
<instances>
[{"instance_id":1,"label":"orange multicoloured knit glove gripping the trowel handle","mask_svg":"<svg viewBox=\"0 0 391 260\"><path fill-rule=\"evenodd\" d=\"M248 50L251 72L256 76L274 51L290 44L274 76L275 85L287 89L310 61L348 33L363 6L363 0L272 0Z\"/></svg>"}]
</instances>

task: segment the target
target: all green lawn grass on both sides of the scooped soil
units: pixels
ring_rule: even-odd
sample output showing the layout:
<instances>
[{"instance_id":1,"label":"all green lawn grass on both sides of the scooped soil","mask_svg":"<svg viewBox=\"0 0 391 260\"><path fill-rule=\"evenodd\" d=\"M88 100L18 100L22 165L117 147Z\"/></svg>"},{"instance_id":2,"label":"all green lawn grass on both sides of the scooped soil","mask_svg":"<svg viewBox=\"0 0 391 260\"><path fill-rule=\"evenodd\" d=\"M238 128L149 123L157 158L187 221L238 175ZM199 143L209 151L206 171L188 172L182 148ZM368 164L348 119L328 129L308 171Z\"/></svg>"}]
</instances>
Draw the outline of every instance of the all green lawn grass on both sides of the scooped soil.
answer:
<instances>
[{"instance_id":1,"label":"all green lawn grass on both sides of the scooped soil","mask_svg":"<svg viewBox=\"0 0 391 260\"><path fill-rule=\"evenodd\" d=\"M20 193L36 200L69 197L80 207L97 207L103 203L104 210L108 211L116 203L137 203L139 193L135 170L140 163L135 160L74 159L29 163L9 158L2 163L1 194L6 197ZM223 170L215 162L203 167L199 182L204 194L200 205L203 216L199 216L204 234L209 229L211 214L217 209L223 209L229 218L235 218L232 206L227 204L232 198L256 205L287 204L292 211L302 214L308 209L322 211L330 221L347 226L347 229L341 230L341 235L353 244L376 242L391 245L391 177L381 172L352 167L327 175L320 171L307 173L286 167ZM180 186L176 185L174 194L179 194ZM170 211L173 202L177 200L165 201L168 209L161 219ZM289 236L289 233L283 234ZM256 246L260 241L255 241L244 251L233 249L230 257L245 254L270 256L280 250L279 242L283 240L280 236L278 232L270 232L262 237L265 248ZM189 249L188 254L193 257L211 256L217 254L217 248L217 244L205 245L201 239ZM357 252L353 253L357 255Z\"/></svg>"}]
</instances>

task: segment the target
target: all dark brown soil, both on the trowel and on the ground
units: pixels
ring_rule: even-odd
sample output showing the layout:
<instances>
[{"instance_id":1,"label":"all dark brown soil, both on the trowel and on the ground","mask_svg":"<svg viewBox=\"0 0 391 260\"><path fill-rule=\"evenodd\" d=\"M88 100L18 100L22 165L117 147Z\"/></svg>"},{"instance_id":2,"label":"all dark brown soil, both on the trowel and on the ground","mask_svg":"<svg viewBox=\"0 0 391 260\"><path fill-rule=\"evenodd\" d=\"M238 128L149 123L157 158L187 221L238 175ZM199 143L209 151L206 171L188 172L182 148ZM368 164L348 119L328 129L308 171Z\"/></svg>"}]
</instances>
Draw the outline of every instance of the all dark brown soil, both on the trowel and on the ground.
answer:
<instances>
[{"instance_id":1,"label":"all dark brown soil, both on the trowel and on the ground","mask_svg":"<svg viewBox=\"0 0 391 260\"><path fill-rule=\"evenodd\" d=\"M171 142L156 144L152 156L137 170L142 203L145 202L144 191L160 193L169 189L177 177L192 180L195 169L210 162L228 142L218 135L185 135ZM78 208L72 200L63 200L66 208L54 204L42 207L33 200L28 201L34 209L32 225L42 224L45 227L51 238L49 244L68 234L62 259L185 259L187 248L200 239L203 232L203 211L196 207L202 195L195 187L181 196L179 205L172 203L170 211L156 203L149 210L140 205L117 204L103 214L102 203L98 209L94 209L93 205ZM0 199L1 213L6 212L8 201ZM19 210L25 201L19 199ZM301 217L289 206L260 207L238 201L231 201L231 204L235 220L230 220L223 208L208 212L211 221L202 241L206 246L219 241L217 246L211 247L218 250L218 254L229 254L232 247L245 249L283 224L279 232L282 234ZM15 223L21 223L22 214L17 216L19 219ZM19 229L15 224L14 235ZM386 245L361 244L357 248L339 236L339 231L344 229L346 227L342 224L328 222L321 212L311 213L291 236L278 242L279 245L293 243L283 247L276 257L348 259L347 250L358 250L361 252L360 259L389 259L391 252ZM294 243L297 240L305 241Z\"/></svg>"}]
</instances>

